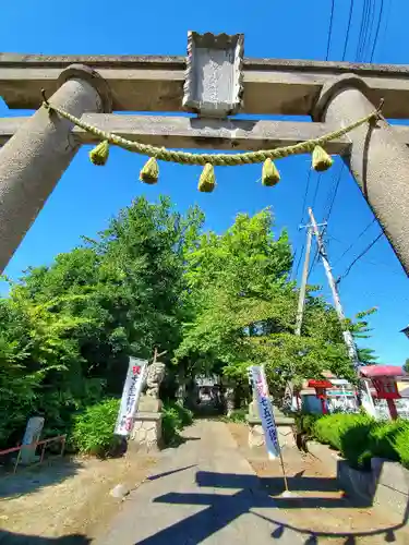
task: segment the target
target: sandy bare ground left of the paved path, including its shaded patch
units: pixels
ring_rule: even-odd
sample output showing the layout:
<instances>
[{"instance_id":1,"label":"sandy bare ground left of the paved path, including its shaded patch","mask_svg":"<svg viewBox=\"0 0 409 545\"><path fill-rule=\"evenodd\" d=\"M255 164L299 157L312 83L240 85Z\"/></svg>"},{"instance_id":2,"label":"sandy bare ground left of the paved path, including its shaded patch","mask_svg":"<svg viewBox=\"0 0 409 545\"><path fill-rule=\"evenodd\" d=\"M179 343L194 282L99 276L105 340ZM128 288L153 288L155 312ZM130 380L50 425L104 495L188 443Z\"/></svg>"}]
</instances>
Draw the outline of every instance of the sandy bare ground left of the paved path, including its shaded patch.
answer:
<instances>
[{"instance_id":1,"label":"sandy bare ground left of the paved path, including its shaded patch","mask_svg":"<svg viewBox=\"0 0 409 545\"><path fill-rule=\"evenodd\" d=\"M119 483L137 487L154 463L154 458L131 455L103 461L55 459L20 469L16 475L0 479L0 530L92 540L120 509L121 501L109 495L111 488Z\"/></svg>"}]
</instances>

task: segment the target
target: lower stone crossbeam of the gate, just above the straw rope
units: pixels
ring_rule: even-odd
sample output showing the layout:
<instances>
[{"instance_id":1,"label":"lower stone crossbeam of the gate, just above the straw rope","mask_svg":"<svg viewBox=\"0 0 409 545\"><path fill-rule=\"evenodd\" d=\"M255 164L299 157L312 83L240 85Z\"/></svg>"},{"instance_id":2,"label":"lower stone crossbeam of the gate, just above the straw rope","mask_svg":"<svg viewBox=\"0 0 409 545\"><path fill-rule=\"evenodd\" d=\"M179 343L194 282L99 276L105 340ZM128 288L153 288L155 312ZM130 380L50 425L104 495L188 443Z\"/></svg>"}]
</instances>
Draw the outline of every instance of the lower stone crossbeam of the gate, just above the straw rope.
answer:
<instances>
[{"instance_id":1,"label":"lower stone crossbeam of the gate, just above the straw rope","mask_svg":"<svg viewBox=\"0 0 409 545\"><path fill-rule=\"evenodd\" d=\"M0 145L4 144L29 118L0 118ZM202 120L171 116L118 116L115 113L86 113L84 121L99 129L116 133L130 141L155 146L191 149L255 150L289 146L310 138L317 138L334 128L325 123L257 120ZM74 128L73 134L81 144L98 140ZM348 136L328 142L330 154L347 154Z\"/></svg>"}]
</instances>

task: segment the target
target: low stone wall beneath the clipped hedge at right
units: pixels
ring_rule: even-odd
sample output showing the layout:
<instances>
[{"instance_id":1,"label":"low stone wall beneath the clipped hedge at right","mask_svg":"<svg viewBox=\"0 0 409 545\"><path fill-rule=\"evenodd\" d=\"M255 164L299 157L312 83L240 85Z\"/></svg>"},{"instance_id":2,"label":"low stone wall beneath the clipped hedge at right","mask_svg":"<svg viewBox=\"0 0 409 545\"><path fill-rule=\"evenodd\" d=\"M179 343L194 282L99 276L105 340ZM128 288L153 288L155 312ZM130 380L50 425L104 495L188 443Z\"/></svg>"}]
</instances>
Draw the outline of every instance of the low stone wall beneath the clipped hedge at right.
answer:
<instances>
[{"instance_id":1,"label":"low stone wall beneath the clipped hedge at right","mask_svg":"<svg viewBox=\"0 0 409 545\"><path fill-rule=\"evenodd\" d=\"M400 463L373 458L371 471L359 471L326 445L308 441L306 448L336 474L339 486L362 505L378 505L406 517L409 509L409 470Z\"/></svg>"}]
</instances>

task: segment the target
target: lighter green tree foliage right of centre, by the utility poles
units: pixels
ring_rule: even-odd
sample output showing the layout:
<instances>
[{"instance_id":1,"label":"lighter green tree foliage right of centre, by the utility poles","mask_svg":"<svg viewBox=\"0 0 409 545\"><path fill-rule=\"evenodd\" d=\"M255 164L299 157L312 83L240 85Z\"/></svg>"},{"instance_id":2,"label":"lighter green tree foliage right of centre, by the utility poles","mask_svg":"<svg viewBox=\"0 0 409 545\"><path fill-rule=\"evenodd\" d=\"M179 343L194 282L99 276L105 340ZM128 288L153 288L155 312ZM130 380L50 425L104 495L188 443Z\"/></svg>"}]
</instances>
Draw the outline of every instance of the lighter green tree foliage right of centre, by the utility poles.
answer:
<instances>
[{"instance_id":1,"label":"lighter green tree foliage right of centre, by the utility poles","mask_svg":"<svg viewBox=\"0 0 409 545\"><path fill-rule=\"evenodd\" d=\"M194 317L184 325L176 360L192 373L222 372L238 383L245 382L249 365L264 364L278 393L287 380L320 377L324 370L353 379L337 315L314 295L314 287L302 336L293 334L298 291L289 281L291 247L287 233L274 238L272 227L272 211L265 209L239 215L221 235L201 237L188 255ZM368 330L362 317L348 322L353 334Z\"/></svg>"}]
</instances>

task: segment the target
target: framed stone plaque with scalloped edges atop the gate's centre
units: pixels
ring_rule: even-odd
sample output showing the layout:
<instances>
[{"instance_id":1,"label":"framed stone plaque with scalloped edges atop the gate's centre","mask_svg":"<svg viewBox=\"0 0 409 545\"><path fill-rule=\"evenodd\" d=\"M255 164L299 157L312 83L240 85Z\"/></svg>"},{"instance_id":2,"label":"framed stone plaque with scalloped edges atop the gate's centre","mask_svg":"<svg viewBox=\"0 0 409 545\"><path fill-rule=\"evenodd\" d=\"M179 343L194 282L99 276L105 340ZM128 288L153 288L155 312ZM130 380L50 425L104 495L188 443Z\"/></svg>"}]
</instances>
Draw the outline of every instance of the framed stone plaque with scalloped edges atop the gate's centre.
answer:
<instances>
[{"instance_id":1,"label":"framed stone plaque with scalloped edges atop the gate's centre","mask_svg":"<svg viewBox=\"0 0 409 545\"><path fill-rule=\"evenodd\" d=\"M244 35L188 33L183 107L203 118L226 118L243 98Z\"/></svg>"}]
</instances>

